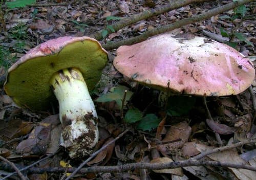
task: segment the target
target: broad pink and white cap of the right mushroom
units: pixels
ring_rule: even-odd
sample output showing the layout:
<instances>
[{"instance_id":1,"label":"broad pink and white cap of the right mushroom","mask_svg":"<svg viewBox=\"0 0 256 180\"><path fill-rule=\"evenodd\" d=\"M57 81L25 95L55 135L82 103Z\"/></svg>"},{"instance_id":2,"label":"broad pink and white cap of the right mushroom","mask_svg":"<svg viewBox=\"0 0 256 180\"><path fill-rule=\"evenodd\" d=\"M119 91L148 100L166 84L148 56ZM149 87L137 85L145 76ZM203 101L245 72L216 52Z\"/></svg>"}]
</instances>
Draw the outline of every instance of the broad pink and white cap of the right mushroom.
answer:
<instances>
[{"instance_id":1,"label":"broad pink and white cap of the right mushroom","mask_svg":"<svg viewBox=\"0 0 256 180\"><path fill-rule=\"evenodd\" d=\"M175 93L200 96L239 94L255 74L250 60L226 44L171 34L119 47L114 66L139 83L164 90L169 82Z\"/></svg>"}]
</instances>

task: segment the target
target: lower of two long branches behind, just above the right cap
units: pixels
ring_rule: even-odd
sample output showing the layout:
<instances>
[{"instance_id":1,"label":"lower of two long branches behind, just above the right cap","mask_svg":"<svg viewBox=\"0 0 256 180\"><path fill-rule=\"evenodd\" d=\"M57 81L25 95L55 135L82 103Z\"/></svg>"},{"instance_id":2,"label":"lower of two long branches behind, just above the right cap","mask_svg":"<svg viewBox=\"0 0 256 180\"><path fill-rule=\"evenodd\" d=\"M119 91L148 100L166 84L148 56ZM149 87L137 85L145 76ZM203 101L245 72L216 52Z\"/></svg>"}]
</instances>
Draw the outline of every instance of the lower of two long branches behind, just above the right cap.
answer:
<instances>
[{"instance_id":1,"label":"lower of two long branches behind, just above the right cap","mask_svg":"<svg viewBox=\"0 0 256 180\"><path fill-rule=\"evenodd\" d=\"M174 22L173 24L161 26L159 28L155 28L153 30L146 31L145 33L143 33L139 36L136 36L136 37L131 37L129 39L120 40L120 41L117 41L117 42L108 42L106 44L103 44L102 47L105 50L113 50L113 49L117 49L119 46L131 45L131 44L134 44L134 43L138 43L138 42L141 42L143 40L146 40L148 37L151 37L151 36L154 36L154 35L157 35L157 34L161 34L161 33L165 33L167 31L172 31L172 30L180 28L182 26L192 24L194 22L198 22L198 21L203 20L203 19L210 18L212 16L215 16L217 14L221 14L225 11L228 11L230 9L236 8L240 5L243 5L243 4L252 2L252 1L253 0L238 0L238 1L235 1L235 2L232 2L232 3L228 3L224 6L220 6L218 8L209 10L208 12L204 12L204 13L199 14L199 15L194 15L192 17L188 17L188 18L185 18L185 19L182 19L182 20L178 20L178 21Z\"/></svg>"}]
</instances>

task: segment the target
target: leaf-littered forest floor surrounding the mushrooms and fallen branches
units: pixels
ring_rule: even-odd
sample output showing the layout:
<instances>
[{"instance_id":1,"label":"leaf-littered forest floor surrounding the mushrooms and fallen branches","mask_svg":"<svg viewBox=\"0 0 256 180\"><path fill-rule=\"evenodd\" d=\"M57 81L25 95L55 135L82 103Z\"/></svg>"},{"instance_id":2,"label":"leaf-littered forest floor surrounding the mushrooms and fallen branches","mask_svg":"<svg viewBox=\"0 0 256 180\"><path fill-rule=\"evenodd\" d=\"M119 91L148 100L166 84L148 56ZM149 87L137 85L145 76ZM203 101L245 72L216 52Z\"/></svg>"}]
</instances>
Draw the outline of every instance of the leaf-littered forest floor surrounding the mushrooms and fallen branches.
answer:
<instances>
[{"instance_id":1,"label":"leaf-littered forest floor surrounding the mushrooms and fallen branches","mask_svg":"<svg viewBox=\"0 0 256 180\"><path fill-rule=\"evenodd\" d=\"M98 39L101 44L126 40L231 2L189 4L140 20L110 34L101 31L100 35L105 37ZM0 14L0 84L3 86L8 68L42 42L61 36L91 36L104 28L111 29L123 17L169 3L173 1L37 1L35 5L14 9L3 4ZM255 12L256 3L251 2L170 33L183 34L186 38L196 35L226 42L256 65ZM164 107L161 106L160 91L123 77L113 66L116 49L108 52L109 62L98 86L92 92L100 132L95 151L117 138L125 129L128 130L83 168L182 161L218 147L227 148L225 151L205 155L204 160L256 167L255 142L228 148L232 143L248 142L256 138L256 107L253 106L255 80L252 88L239 95L207 97L207 106L212 116L209 119L202 97L174 95L168 98ZM125 90L127 103L125 100L125 103L122 102ZM29 179L65 179L70 174L67 171L61 172L61 168L75 168L86 160L70 159L65 149L59 146L61 125L57 106L50 107L49 111L31 111L17 106L5 94L3 87L0 93L0 155L4 160L22 169L47 157L24 171ZM0 178L13 172L4 160L0 162ZM60 169L54 169L57 167ZM203 162L201 166L164 170L134 168L132 164L126 171L99 171L96 168L92 172L81 172L74 179L254 179L256 176L255 171L227 168L224 165L209 166ZM20 179L20 176L14 174L9 178Z\"/></svg>"}]
</instances>

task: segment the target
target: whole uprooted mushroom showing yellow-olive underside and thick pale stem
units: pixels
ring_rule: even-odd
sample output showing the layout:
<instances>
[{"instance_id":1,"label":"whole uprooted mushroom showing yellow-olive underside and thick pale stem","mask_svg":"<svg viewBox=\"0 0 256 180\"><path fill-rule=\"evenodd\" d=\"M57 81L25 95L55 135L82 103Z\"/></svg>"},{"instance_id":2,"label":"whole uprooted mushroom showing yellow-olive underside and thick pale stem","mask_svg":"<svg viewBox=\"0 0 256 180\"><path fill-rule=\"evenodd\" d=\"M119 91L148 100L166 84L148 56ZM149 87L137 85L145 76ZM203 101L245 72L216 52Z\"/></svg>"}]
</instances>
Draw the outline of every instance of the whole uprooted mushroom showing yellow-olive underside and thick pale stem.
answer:
<instances>
[{"instance_id":1,"label":"whole uprooted mushroom showing yellow-olive underside and thick pale stem","mask_svg":"<svg viewBox=\"0 0 256 180\"><path fill-rule=\"evenodd\" d=\"M6 94L22 107L49 109L55 95L63 130L61 146L71 158L89 155L98 142L97 114L89 91L108 61L90 37L59 37L31 49L8 71Z\"/></svg>"}]
</instances>

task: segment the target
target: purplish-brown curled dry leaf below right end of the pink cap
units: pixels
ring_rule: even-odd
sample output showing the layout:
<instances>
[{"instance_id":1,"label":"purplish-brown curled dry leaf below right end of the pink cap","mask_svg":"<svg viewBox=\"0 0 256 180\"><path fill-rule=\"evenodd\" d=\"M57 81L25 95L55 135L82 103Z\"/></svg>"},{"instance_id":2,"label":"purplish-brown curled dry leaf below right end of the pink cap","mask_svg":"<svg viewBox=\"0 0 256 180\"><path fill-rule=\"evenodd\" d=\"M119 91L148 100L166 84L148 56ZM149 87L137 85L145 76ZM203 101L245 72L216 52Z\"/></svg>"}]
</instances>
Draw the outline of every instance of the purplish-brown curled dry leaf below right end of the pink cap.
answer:
<instances>
[{"instance_id":1,"label":"purplish-brown curled dry leaf below right end of the pink cap","mask_svg":"<svg viewBox=\"0 0 256 180\"><path fill-rule=\"evenodd\" d=\"M232 134L234 133L234 128L229 127L225 124L220 124L214 120L206 119L207 125L215 132L219 134Z\"/></svg>"}]
</instances>

